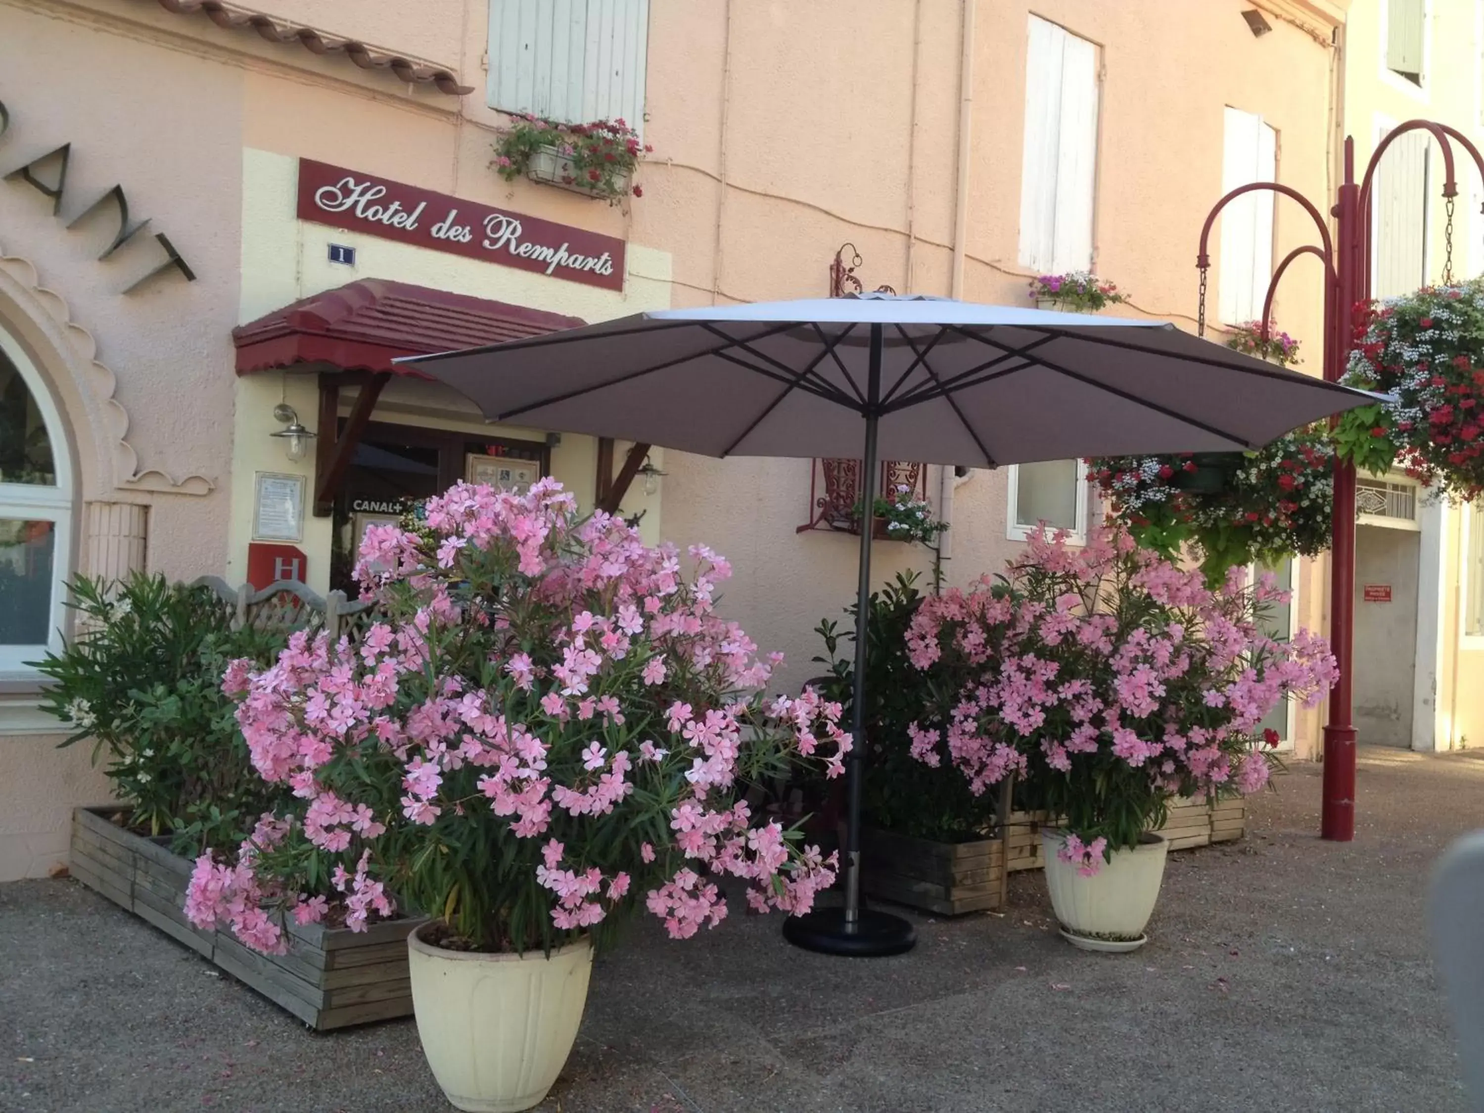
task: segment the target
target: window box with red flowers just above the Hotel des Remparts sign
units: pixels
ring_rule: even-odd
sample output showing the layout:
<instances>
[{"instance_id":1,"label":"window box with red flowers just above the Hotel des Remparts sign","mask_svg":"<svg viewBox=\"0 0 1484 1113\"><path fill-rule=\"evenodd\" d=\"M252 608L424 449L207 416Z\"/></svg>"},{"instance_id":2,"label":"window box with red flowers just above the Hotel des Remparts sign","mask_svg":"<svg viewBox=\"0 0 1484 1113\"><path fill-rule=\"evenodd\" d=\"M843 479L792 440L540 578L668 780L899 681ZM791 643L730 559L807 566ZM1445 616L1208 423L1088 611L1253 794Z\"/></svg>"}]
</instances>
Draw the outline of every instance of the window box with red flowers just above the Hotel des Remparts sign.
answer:
<instances>
[{"instance_id":1,"label":"window box with red flowers just above the Hotel des Remparts sign","mask_svg":"<svg viewBox=\"0 0 1484 1113\"><path fill-rule=\"evenodd\" d=\"M623 197L644 196L634 184L634 169L650 150L623 120L558 123L527 114L516 116L494 144L494 168L506 181L524 174L617 205Z\"/></svg>"}]
</instances>

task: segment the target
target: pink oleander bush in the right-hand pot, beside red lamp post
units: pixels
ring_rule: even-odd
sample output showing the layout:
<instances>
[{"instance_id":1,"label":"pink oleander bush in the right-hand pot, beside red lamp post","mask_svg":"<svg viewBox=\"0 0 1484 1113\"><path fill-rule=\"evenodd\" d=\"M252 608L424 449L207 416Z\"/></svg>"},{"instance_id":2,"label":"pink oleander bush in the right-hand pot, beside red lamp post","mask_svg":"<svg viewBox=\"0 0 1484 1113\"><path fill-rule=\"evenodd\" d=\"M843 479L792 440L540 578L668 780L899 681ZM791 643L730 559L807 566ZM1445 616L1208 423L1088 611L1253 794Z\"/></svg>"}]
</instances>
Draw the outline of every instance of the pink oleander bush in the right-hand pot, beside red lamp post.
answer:
<instances>
[{"instance_id":1,"label":"pink oleander bush in the right-hand pot, beside red lamp post","mask_svg":"<svg viewBox=\"0 0 1484 1113\"><path fill-rule=\"evenodd\" d=\"M932 696L913 754L947 758L976 794L1024 776L1085 871L1137 846L1174 795L1260 789L1278 742L1263 717L1316 702L1336 668L1307 631L1269 637L1284 594L1244 580L1208 589L1125 531L1083 549L1033 539L1005 576L919 607L908 653Z\"/></svg>"}]
</instances>

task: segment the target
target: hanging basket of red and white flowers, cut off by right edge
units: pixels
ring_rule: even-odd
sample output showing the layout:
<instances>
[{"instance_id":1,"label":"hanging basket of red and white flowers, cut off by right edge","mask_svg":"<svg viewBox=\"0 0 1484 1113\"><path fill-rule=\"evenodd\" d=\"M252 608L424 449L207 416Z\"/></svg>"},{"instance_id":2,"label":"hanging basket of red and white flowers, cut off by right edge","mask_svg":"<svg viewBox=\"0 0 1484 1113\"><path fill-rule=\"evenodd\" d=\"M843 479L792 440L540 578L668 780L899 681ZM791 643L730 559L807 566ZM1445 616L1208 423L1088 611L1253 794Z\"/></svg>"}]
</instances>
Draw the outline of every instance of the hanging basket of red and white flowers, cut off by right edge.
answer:
<instances>
[{"instance_id":1,"label":"hanging basket of red and white flowers, cut off by right edge","mask_svg":"<svg viewBox=\"0 0 1484 1113\"><path fill-rule=\"evenodd\" d=\"M1343 381L1391 396L1340 418L1345 459L1376 473L1398 466L1448 499L1484 491L1484 280L1359 310Z\"/></svg>"}]
</instances>

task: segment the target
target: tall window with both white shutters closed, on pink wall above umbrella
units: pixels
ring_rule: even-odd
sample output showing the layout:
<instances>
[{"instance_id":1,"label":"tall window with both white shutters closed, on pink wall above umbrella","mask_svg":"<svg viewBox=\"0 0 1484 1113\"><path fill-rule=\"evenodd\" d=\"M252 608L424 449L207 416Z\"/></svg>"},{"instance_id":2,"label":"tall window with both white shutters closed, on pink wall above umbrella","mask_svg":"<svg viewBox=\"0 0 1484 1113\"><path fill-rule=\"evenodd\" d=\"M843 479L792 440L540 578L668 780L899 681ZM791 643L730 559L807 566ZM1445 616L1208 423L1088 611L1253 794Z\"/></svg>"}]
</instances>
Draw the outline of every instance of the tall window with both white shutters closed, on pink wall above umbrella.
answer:
<instances>
[{"instance_id":1,"label":"tall window with both white shutters closed, on pink wall above umbrella","mask_svg":"<svg viewBox=\"0 0 1484 1113\"><path fill-rule=\"evenodd\" d=\"M1098 47L1030 18L1021 266L1061 275L1092 267L1098 157Z\"/></svg>"}]
</instances>

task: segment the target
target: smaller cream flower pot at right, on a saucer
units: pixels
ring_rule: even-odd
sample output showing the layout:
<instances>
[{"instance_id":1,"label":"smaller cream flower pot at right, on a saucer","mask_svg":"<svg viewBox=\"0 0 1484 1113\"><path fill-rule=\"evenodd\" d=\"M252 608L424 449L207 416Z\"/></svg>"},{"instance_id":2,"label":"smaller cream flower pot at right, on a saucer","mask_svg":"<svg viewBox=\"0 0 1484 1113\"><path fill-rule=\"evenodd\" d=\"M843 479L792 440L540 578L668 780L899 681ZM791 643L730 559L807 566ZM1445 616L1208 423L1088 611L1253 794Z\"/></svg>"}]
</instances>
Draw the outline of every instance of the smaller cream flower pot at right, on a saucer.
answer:
<instances>
[{"instance_id":1,"label":"smaller cream flower pot at right, on a saucer","mask_svg":"<svg viewBox=\"0 0 1484 1113\"><path fill-rule=\"evenodd\" d=\"M1061 831L1042 833L1046 887L1061 933L1088 951L1134 951L1144 945L1144 925L1159 899L1169 843L1146 834L1132 850L1114 850L1112 862L1100 862L1083 877L1074 862L1060 856ZM416 987L414 987L416 988Z\"/></svg>"}]
</instances>

